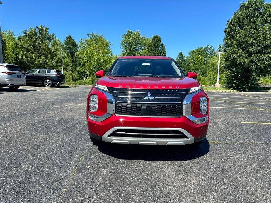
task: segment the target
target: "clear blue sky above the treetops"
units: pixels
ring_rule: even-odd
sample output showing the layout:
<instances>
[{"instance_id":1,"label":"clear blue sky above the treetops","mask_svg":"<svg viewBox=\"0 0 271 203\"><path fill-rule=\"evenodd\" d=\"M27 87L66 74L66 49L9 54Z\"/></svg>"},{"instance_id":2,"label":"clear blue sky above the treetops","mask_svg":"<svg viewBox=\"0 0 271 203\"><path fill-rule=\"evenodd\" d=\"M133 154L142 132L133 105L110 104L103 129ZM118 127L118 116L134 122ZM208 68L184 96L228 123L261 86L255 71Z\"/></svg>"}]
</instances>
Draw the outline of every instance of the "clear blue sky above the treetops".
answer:
<instances>
[{"instance_id":1,"label":"clear blue sky above the treetops","mask_svg":"<svg viewBox=\"0 0 271 203\"><path fill-rule=\"evenodd\" d=\"M77 42L98 32L121 54L121 35L127 29L146 37L160 35L167 56L186 56L206 44L223 43L224 29L241 0L226 1L17 1L1 0L1 30L16 35L37 25L46 25L62 42L71 35Z\"/></svg>"}]
</instances>

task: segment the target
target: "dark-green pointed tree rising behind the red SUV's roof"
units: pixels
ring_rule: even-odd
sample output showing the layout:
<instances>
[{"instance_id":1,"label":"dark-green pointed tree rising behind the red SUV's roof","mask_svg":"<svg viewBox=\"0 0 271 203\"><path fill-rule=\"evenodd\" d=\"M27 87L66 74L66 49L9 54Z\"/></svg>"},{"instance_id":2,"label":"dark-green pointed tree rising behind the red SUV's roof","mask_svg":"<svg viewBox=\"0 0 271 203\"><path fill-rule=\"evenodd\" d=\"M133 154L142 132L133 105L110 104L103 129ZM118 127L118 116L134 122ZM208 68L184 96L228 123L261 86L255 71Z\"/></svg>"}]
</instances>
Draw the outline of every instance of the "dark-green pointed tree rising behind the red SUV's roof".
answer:
<instances>
[{"instance_id":1,"label":"dark-green pointed tree rising behind the red SUV's roof","mask_svg":"<svg viewBox=\"0 0 271 203\"><path fill-rule=\"evenodd\" d=\"M166 56L166 47L159 35L154 35L147 45L147 53L150 56Z\"/></svg>"}]
</instances>

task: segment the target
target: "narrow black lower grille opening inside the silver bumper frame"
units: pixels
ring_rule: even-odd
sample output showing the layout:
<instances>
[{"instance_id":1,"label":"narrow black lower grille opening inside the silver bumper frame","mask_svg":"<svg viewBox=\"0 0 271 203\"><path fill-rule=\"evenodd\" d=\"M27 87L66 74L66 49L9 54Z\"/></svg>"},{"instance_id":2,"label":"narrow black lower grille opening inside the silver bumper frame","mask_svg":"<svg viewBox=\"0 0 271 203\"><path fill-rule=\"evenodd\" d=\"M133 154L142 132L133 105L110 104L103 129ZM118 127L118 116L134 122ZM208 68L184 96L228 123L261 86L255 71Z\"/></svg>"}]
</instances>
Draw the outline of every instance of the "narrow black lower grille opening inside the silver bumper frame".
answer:
<instances>
[{"instance_id":1,"label":"narrow black lower grille opening inside the silver bumper frame","mask_svg":"<svg viewBox=\"0 0 271 203\"><path fill-rule=\"evenodd\" d=\"M181 139L188 138L179 130L137 130L118 129L108 135L108 137L125 138L153 138L153 139Z\"/></svg>"}]
</instances>

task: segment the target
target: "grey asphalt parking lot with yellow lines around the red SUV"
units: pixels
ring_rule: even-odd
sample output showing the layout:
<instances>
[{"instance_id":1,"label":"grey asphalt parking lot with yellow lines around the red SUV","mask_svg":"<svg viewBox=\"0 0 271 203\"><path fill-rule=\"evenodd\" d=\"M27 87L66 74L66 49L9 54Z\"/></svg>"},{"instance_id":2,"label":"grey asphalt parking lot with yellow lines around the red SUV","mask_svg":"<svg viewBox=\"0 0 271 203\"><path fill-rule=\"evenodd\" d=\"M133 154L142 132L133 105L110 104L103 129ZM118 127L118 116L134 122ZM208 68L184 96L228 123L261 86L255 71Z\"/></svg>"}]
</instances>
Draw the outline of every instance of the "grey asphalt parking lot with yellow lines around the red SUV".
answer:
<instances>
[{"instance_id":1,"label":"grey asphalt parking lot with yellow lines around the red SUV","mask_svg":"<svg viewBox=\"0 0 271 203\"><path fill-rule=\"evenodd\" d=\"M0 202L271 202L271 93L207 92L192 146L93 145L89 86L0 90Z\"/></svg>"}]
</instances>

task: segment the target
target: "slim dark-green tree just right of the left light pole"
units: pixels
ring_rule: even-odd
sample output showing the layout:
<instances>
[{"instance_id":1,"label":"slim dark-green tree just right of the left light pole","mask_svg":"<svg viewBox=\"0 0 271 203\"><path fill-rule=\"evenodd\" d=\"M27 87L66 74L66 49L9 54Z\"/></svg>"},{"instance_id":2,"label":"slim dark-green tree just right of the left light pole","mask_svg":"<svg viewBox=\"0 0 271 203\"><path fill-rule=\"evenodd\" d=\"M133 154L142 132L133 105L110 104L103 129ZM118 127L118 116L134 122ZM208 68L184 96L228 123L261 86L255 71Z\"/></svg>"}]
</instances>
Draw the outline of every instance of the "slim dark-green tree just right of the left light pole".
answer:
<instances>
[{"instance_id":1,"label":"slim dark-green tree just right of the left light pole","mask_svg":"<svg viewBox=\"0 0 271 203\"><path fill-rule=\"evenodd\" d=\"M73 81L73 71L74 71L74 62L75 62L75 59L76 59L76 52L78 51L78 45L77 43L75 42L75 40L71 37L71 35L68 35L66 36L66 39L64 41L64 44L63 44L63 48L64 48L64 51L67 55L67 60L66 60L66 63L70 64L70 66L68 65L68 70L69 71L69 75L71 76L71 81Z\"/></svg>"}]
</instances>

